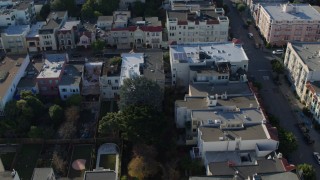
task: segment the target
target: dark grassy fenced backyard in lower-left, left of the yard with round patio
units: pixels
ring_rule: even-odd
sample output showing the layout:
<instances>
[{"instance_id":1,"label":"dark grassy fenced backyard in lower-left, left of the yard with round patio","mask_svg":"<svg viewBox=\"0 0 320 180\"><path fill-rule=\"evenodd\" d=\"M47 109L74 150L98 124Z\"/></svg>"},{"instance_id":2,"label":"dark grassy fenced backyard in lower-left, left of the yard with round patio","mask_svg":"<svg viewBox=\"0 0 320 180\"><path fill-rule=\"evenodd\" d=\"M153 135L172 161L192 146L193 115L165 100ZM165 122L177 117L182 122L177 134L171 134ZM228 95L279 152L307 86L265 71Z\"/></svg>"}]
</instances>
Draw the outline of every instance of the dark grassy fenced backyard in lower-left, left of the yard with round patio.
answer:
<instances>
[{"instance_id":1,"label":"dark grassy fenced backyard in lower-left, left of the yard with round patio","mask_svg":"<svg viewBox=\"0 0 320 180\"><path fill-rule=\"evenodd\" d=\"M25 144L18 151L13 168L17 170L21 179L31 179L42 145Z\"/></svg>"}]
</instances>

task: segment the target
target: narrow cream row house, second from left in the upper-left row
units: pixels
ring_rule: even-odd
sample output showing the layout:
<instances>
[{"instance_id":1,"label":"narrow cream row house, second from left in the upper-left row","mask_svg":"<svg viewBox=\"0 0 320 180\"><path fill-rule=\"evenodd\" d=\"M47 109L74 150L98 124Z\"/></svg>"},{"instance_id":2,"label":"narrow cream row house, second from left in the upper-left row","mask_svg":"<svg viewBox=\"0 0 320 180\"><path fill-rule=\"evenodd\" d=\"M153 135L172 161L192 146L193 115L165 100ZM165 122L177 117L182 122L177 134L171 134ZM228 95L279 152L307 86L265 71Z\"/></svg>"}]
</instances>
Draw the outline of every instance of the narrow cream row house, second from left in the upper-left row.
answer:
<instances>
[{"instance_id":1,"label":"narrow cream row house, second from left in the upper-left row","mask_svg":"<svg viewBox=\"0 0 320 180\"><path fill-rule=\"evenodd\" d=\"M32 25L30 32L26 36L26 42L28 52L39 52L41 51L39 30L46 24L45 21L39 21Z\"/></svg>"}]
</instances>

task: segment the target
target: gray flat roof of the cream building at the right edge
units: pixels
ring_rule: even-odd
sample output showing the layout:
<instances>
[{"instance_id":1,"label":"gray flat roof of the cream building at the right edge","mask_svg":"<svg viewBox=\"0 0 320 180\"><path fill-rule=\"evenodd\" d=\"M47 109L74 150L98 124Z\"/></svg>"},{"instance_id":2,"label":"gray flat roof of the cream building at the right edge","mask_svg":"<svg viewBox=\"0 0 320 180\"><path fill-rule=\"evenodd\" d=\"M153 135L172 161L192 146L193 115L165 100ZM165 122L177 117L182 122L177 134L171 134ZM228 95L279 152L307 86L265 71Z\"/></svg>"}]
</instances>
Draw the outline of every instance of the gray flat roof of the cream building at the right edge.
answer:
<instances>
[{"instance_id":1,"label":"gray flat roof of the cream building at the right edge","mask_svg":"<svg viewBox=\"0 0 320 180\"><path fill-rule=\"evenodd\" d=\"M319 42L291 42L291 45L310 71L320 71Z\"/></svg>"}]
</instances>

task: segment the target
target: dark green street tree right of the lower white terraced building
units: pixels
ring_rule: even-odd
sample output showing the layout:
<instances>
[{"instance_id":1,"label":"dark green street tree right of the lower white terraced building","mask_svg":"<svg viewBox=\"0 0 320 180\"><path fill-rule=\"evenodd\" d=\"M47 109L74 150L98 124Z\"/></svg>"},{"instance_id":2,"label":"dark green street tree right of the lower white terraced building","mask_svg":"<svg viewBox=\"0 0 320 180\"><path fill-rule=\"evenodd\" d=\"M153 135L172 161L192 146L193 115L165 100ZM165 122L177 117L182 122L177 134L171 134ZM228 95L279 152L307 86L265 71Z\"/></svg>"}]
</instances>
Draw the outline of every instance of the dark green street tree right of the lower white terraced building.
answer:
<instances>
[{"instance_id":1,"label":"dark green street tree right of the lower white terraced building","mask_svg":"<svg viewBox=\"0 0 320 180\"><path fill-rule=\"evenodd\" d=\"M298 149L297 139L292 132L279 127L278 136L280 141L279 151L285 156Z\"/></svg>"}]
</instances>

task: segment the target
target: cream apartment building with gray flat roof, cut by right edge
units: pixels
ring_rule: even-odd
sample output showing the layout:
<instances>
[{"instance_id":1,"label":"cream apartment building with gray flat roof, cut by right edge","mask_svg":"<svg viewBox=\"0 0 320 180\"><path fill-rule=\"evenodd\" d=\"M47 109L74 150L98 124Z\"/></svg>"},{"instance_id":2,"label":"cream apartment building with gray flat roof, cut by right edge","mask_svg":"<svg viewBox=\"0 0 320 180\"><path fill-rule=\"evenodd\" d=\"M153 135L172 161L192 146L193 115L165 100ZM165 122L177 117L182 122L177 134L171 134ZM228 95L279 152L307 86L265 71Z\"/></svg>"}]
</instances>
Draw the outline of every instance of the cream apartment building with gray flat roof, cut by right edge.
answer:
<instances>
[{"instance_id":1,"label":"cream apartment building with gray flat roof, cut by right edge","mask_svg":"<svg viewBox=\"0 0 320 180\"><path fill-rule=\"evenodd\" d=\"M284 58L293 89L306 102L307 82L320 81L320 43L289 42Z\"/></svg>"}]
</instances>

